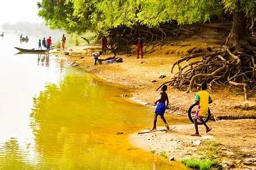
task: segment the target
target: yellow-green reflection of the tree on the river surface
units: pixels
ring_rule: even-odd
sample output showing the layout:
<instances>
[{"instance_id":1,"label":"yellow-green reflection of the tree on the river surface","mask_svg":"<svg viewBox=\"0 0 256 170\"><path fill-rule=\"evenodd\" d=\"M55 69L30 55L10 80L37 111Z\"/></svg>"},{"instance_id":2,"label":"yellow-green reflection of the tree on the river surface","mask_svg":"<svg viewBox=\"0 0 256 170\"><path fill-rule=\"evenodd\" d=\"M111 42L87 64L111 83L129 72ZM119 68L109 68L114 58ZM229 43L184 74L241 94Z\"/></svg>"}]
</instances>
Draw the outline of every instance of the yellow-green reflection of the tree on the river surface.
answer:
<instances>
[{"instance_id":1,"label":"yellow-green reflection of the tree on the river surface","mask_svg":"<svg viewBox=\"0 0 256 170\"><path fill-rule=\"evenodd\" d=\"M127 141L132 130L148 125L152 114L117 97L122 93L81 73L67 73L60 86L47 85L31 113L36 160L42 168L151 169L152 162L170 167L167 160L133 149Z\"/></svg>"}]
</instances>

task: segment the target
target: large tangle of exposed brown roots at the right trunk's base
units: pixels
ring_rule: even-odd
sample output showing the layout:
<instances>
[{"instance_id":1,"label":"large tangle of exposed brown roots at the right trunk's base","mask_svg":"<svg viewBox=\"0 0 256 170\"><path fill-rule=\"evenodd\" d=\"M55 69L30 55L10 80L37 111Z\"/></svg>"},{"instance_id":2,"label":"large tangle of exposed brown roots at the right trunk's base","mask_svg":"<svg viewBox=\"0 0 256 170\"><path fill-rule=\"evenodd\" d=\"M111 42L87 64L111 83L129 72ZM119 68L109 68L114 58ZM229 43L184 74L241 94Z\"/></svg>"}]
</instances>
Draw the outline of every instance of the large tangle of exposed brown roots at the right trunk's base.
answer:
<instances>
[{"instance_id":1,"label":"large tangle of exposed brown roots at the right trunk's base","mask_svg":"<svg viewBox=\"0 0 256 170\"><path fill-rule=\"evenodd\" d=\"M178 66L179 72L164 84L170 84L189 93L200 88L204 81L210 88L214 84L229 83L233 86L242 86L244 99L248 100L246 89L256 85L256 53L252 50L255 47L252 46L250 50L246 47L237 51L235 47L225 46L217 52L185 56L173 64L171 72L175 66Z\"/></svg>"}]
</instances>

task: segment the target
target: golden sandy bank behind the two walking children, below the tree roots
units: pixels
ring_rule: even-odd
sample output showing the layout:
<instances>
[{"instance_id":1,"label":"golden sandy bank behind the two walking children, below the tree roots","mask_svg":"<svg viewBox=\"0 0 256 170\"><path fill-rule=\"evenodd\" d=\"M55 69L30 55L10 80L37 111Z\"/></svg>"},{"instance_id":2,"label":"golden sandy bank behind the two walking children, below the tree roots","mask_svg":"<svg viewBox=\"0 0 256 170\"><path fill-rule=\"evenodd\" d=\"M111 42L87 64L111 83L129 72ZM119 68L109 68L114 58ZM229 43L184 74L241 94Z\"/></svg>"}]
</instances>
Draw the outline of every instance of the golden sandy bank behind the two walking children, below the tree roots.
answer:
<instances>
[{"instance_id":1,"label":"golden sandy bank behind the two walking children, below the tree roots","mask_svg":"<svg viewBox=\"0 0 256 170\"><path fill-rule=\"evenodd\" d=\"M156 89L170 80L174 73L170 73L170 69L180 56L186 55L186 51L195 47L214 47L209 43L193 43L186 42L182 45L188 46L172 46L162 47L162 50L156 50L151 54L145 54L143 59L136 59L134 55L120 55L124 63L114 63L109 65L93 65L93 58L90 56L92 52L99 51L100 47L74 47L68 56L68 60L72 66L79 66L86 72L108 81L115 85L131 89L133 99L153 105L159 91ZM173 54L169 54L169 52ZM113 54L108 53L100 58L108 58ZM177 68L176 68L177 69ZM177 71L177 70L175 70ZM161 75L166 75L163 79ZM152 82L156 81L156 82ZM170 110L168 112L175 114L186 114L188 107L193 104L195 93L185 93L168 88L170 98ZM212 90L212 98L214 103L211 105L212 113L215 118L250 118L256 117L256 95L253 91L248 93L249 102L244 102L243 89L232 87L218 87ZM225 102L223 102L225 101ZM241 107L250 107L254 109L239 109ZM239 111L237 111L237 109Z\"/></svg>"}]
</instances>

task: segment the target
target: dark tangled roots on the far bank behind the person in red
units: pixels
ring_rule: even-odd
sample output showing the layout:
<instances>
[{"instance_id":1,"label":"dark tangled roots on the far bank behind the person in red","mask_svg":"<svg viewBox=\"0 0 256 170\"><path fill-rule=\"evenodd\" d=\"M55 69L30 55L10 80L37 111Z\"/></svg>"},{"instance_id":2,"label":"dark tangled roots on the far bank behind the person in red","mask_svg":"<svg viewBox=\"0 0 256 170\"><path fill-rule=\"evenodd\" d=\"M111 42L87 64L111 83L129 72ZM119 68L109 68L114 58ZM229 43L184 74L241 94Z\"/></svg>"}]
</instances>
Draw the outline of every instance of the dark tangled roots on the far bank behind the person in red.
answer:
<instances>
[{"instance_id":1,"label":"dark tangled roots on the far bank behind the person in red","mask_svg":"<svg viewBox=\"0 0 256 170\"><path fill-rule=\"evenodd\" d=\"M201 26L194 26L187 28L186 26L178 26L174 23L162 24L159 27L147 27L141 25L134 25L130 27L116 27L108 30L109 45L111 50L131 52L131 45L135 45L137 38L141 35L145 39L144 46L147 49L148 45L152 45L152 52L154 48L164 45L167 38L177 39L180 35L188 37L192 35L199 36L206 40L200 31Z\"/></svg>"}]
</instances>

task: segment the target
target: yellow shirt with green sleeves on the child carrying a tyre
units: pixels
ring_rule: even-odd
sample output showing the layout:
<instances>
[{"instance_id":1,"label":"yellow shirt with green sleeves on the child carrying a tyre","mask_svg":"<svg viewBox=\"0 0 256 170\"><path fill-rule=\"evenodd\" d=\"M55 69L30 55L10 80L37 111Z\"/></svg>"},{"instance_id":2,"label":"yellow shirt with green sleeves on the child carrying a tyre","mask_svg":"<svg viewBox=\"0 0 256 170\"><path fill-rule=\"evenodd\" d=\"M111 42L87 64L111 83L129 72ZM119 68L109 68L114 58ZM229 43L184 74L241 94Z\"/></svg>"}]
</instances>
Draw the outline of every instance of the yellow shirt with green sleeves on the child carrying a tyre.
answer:
<instances>
[{"instance_id":1,"label":"yellow shirt with green sleeves on the child carrying a tyre","mask_svg":"<svg viewBox=\"0 0 256 170\"><path fill-rule=\"evenodd\" d=\"M208 112L209 101L212 100L209 92L206 90L198 91L198 93L196 93L195 100L199 101L199 107L200 107L200 111L198 112L199 116L206 116Z\"/></svg>"}]
</instances>

